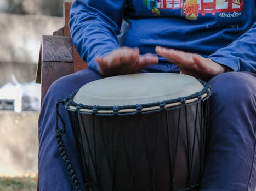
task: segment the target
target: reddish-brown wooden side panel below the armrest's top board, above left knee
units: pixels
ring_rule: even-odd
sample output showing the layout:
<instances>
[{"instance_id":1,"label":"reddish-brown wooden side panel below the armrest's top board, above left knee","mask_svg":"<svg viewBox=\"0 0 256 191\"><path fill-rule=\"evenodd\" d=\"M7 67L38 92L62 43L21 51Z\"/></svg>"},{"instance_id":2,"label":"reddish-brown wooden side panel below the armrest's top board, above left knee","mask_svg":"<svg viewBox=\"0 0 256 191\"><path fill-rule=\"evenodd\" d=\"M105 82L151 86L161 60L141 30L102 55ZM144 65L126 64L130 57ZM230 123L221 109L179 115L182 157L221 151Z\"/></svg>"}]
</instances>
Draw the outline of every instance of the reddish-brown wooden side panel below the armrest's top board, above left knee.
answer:
<instances>
[{"instance_id":1,"label":"reddish-brown wooden side panel below the armrest's top board, above left knee","mask_svg":"<svg viewBox=\"0 0 256 191\"><path fill-rule=\"evenodd\" d=\"M42 62L41 75L41 103L50 85L62 76L73 73L71 62Z\"/></svg>"}]
</instances>

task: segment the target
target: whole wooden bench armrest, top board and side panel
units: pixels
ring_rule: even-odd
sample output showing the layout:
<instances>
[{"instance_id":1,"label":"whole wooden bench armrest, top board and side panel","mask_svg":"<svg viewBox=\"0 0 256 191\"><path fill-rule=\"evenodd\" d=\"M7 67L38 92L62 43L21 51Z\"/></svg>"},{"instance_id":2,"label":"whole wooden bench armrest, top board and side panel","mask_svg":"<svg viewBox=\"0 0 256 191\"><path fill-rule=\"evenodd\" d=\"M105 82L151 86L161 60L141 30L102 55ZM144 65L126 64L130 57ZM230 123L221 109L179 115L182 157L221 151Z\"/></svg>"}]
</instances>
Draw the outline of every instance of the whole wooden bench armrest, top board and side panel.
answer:
<instances>
[{"instance_id":1,"label":"whole wooden bench armrest, top board and side panel","mask_svg":"<svg viewBox=\"0 0 256 191\"><path fill-rule=\"evenodd\" d=\"M73 73L73 44L70 37L43 35L36 83L41 83L41 102L52 83Z\"/></svg>"}]
</instances>

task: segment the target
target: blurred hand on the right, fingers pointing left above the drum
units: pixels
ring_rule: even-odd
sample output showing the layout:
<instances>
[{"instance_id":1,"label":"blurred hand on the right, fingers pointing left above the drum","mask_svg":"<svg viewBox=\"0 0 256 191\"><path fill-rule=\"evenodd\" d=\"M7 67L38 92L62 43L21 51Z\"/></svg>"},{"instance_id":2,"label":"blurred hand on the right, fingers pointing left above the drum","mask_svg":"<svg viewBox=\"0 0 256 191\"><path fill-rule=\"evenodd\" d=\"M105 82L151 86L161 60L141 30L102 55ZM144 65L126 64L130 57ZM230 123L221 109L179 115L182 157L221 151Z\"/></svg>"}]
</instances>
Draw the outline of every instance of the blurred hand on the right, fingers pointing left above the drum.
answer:
<instances>
[{"instance_id":1,"label":"blurred hand on the right, fingers pointing left above the drum","mask_svg":"<svg viewBox=\"0 0 256 191\"><path fill-rule=\"evenodd\" d=\"M209 80L215 75L224 73L225 71L231 71L230 68L196 53L187 53L160 46L156 46L156 53L167 58L169 62L176 64L181 74L191 75L202 80Z\"/></svg>"}]
</instances>

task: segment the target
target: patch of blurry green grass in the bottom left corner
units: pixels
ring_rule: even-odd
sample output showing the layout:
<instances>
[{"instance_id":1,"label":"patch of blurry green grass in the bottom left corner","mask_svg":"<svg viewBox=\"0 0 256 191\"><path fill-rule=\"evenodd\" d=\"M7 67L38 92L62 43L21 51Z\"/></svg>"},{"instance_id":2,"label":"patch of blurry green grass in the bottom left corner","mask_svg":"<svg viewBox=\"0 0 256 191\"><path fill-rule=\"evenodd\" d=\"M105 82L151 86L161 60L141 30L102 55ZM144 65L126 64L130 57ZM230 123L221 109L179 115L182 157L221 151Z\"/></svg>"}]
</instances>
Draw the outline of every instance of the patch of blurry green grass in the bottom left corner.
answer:
<instances>
[{"instance_id":1,"label":"patch of blurry green grass in the bottom left corner","mask_svg":"<svg viewBox=\"0 0 256 191\"><path fill-rule=\"evenodd\" d=\"M0 177L1 191L36 191L36 177Z\"/></svg>"}]
</instances>

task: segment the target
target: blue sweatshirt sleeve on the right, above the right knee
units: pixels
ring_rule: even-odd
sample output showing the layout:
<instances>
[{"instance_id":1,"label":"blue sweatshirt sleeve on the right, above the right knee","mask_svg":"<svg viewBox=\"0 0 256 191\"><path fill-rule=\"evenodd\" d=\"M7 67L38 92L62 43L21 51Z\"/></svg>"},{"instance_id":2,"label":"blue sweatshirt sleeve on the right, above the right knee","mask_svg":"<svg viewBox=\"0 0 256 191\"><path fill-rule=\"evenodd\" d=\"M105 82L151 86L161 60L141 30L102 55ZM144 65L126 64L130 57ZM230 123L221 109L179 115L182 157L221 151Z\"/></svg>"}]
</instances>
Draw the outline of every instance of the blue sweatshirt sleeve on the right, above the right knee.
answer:
<instances>
[{"instance_id":1,"label":"blue sweatshirt sleeve on the right, above the right knee","mask_svg":"<svg viewBox=\"0 0 256 191\"><path fill-rule=\"evenodd\" d=\"M219 49L208 58L234 71L256 72L256 22L240 38Z\"/></svg>"}]
</instances>

